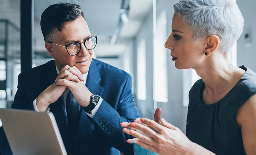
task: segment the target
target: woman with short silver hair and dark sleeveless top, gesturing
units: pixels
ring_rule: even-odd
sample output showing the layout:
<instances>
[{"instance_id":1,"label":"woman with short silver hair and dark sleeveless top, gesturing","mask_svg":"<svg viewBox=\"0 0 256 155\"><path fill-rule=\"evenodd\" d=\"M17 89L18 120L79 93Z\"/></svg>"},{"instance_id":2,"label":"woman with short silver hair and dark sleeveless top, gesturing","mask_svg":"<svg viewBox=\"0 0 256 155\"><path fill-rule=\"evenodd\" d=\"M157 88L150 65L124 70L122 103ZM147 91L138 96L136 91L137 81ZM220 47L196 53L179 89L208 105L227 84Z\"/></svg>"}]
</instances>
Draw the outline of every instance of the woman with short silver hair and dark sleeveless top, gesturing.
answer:
<instances>
[{"instance_id":1,"label":"woman with short silver hair and dark sleeveless top, gesturing","mask_svg":"<svg viewBox=\"0 0 256 155\"><path fill-rule=\"evenodd\" d=\"M162 126L147 118L140 121L148 126L123 122L123 132L162 155L255 154L256 73L233 66L228 56L243 31L238 6L233 0L179 0L173 7L165 47L177 69L195 69L201 78L189 92L186 135L163 118Z\"/></svg>"}]
</instances>

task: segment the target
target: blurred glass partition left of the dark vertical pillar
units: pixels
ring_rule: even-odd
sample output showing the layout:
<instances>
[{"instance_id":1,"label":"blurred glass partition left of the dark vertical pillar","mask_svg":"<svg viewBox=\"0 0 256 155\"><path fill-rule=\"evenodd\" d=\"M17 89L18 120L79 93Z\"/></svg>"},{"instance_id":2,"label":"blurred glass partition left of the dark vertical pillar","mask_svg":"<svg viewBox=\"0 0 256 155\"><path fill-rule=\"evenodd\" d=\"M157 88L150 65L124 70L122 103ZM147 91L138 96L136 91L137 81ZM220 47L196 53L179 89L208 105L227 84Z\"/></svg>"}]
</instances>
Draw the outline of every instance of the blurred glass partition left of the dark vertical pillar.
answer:
<instances>
[{"instance_id":1,"label":"blurred glass partition left of the dark vertical pillar","mask_svg":"<svg viewBox=\"0 0 256 155\"><path fill-rule=\"evenodd\" d=\"M17 91L18 73L20 73L20 70L15 69L16 65L20 65L20 30L9 20L0 20L1 108L11 107Z\"/></svg>"}]
</instances>

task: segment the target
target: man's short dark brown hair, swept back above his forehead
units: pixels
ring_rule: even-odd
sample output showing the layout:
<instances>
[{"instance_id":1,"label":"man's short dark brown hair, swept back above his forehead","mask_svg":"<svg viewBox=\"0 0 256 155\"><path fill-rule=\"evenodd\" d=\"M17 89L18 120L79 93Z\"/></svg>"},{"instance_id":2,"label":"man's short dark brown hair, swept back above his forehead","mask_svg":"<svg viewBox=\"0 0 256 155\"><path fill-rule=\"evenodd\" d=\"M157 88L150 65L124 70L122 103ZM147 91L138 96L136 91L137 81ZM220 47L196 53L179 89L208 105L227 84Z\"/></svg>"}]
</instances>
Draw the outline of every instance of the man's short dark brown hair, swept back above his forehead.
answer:
<instances>
[{"instance_id":1,"label":"man's short dark brown hair, swept back above his forehead","mask_svg":"<svg viewBox=\"0 0 256 155\"><path fill-rule=\"evenodd\" d=\"M78 4L57 3L46 8L40 21L45 42L53 42L56 31L61 31L66 21L73 21L80 16L85 18Z\"/></svg>"}]
</instances>

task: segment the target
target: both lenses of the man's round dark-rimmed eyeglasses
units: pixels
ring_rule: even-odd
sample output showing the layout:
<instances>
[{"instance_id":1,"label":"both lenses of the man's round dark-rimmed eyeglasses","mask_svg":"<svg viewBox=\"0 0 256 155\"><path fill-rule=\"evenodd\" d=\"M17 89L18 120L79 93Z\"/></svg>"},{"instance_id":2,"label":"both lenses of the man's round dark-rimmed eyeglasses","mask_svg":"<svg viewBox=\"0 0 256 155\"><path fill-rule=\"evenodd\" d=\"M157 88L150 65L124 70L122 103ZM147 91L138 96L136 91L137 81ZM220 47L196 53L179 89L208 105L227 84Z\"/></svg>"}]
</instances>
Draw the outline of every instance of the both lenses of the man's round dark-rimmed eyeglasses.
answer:
<instances>
[{"instance_id":1,"label":"both lenses of the man's round dark-rimmed eyeglasses","mask_svg":"<svg viewBox=\"0 0 256 155\"><path fill-rule=\"evenodd\" d=\"M84 45L87 50L94 49L94 47L96 46L96 43L97 43L96 37L90 37L84 41ZM81 48L81 44L79 42L73 42L68 45L67 50L70 55L75 55L80 51L80 48Z\"/></svg>"}]
</instances>

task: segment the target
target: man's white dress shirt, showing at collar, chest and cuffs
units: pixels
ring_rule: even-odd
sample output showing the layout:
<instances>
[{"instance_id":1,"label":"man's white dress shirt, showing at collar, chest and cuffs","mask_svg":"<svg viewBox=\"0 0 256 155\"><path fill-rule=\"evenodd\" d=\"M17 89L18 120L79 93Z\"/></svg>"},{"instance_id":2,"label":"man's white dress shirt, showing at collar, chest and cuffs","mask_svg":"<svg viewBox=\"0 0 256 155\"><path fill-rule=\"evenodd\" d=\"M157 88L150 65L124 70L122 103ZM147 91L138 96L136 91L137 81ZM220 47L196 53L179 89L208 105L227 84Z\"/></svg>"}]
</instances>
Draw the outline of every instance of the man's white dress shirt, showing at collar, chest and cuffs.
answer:
<instances>
[{"instance_id":1,"label":"man's white dress shirt, showing at collar, chest and cuffs","mask_svg":"<svg viewBox=\"0 0 256 155\"><path fill-rule=\"evenodd\" d=\"M57 73L59 74L60 71L58 70L57 66L56 66L56 71L57 71ZM85 74L83 74L83 78L85 79L84 84L86 83L87 75L88 75L88 72L85 73ZM65 91L63 92L63 94L61 95L61 96L62 96L63 105L64 105L64 109L65 109L66 115L67 115L67 112L66 112L66 99L67 99L68 92L69 92L69 89L68 89L68 87L67 87L66 90L65 90ZM89 113L86 113L86 114L87 114L89 117L93 118L94 115L97 113L97 111L98 111L98 109L99 109L99 106L101 105L102 101L103 101L103 99L100 97L98 104L97 104L97 105L94 107L94 109L92 110L92 114L89 114ZM35 111L39 112L38 109L37 109L37 107L36 107L36 99L33 101L33 106L34 106ZM81 109L81 108L82 108L82 106L80 105L80 109ZM48 113L49 111L50 111L50 107L48 106L45 112Z\"/></svg>"}]
</instances>

